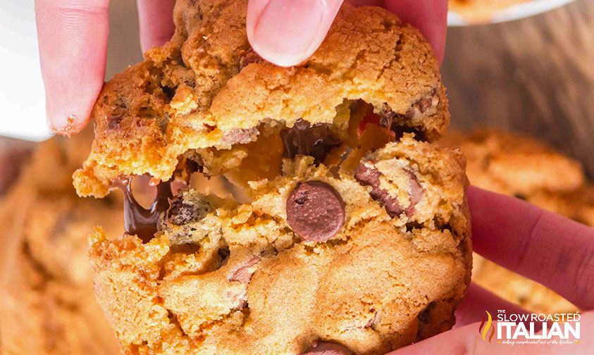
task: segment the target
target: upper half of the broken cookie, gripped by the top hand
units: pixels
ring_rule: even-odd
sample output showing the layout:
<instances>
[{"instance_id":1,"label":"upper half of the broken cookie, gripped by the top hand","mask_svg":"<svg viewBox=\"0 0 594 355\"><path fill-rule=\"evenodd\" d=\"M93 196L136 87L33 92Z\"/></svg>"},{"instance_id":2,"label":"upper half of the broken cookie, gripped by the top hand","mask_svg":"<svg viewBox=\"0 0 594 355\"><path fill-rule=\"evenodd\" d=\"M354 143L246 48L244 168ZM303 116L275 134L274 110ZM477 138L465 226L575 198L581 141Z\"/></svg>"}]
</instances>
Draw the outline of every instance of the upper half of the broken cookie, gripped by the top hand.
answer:
<instances>
[{"instance_id":1,"label":"upper half of the broken cookie, gripped by the top hand","mask_svg":"<svg viewBox=\"0 0 594 355\"><path fill-rule=\"evenodd\" d=\"M362 103L397 131L429 141L444 132L438 61L397 16L345 3L316 53L280 68L249 46L246 8L247 0L177 1L171 41L101 91L93 148L74 177L79 194L102 197L120 176L167 181L186 161L211 175L249 161L271 178L280 171L281 130L317 125L331 139L316 149L338 147Z\"/></svg>"}]
</instances>

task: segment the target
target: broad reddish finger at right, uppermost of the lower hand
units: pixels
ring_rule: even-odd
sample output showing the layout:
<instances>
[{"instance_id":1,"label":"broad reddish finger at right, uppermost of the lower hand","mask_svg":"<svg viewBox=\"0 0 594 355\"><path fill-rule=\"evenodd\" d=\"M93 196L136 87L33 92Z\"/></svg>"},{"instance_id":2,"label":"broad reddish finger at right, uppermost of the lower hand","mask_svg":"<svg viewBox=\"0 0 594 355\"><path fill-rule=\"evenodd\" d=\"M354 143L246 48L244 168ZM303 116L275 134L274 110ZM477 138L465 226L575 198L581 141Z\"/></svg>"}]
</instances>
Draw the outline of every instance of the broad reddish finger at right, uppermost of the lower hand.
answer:
<instances>
[{"instance_id":1,"label":"broad reddish finger at right, uppermost of the lower hand","mask_svg":"<svg viewBox=\"0 0 594 355\"><path fill-rule=\"evenodd\" d=\"M478 254L594 309L594 229L477 187L468 199Z\"/></svg>"}]
</instances>

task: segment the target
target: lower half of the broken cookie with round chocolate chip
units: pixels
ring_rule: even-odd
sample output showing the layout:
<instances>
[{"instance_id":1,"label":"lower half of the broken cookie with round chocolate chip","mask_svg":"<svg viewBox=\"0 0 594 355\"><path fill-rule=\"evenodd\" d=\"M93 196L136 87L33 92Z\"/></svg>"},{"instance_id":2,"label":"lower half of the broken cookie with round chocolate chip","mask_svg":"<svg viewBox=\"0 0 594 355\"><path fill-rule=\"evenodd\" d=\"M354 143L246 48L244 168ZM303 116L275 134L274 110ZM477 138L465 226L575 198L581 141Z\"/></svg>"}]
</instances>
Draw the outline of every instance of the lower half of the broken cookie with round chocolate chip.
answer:
<instances>
[{"instance_id":1,"label":"lower half of the broken cookie with round chocolate chip","mask_svg":"<svg viewBox=\"0 0 594 355\"><path fill-rule=\"evenodd\" d=\"M92 235L125 354L385 354L452 326L471 270L459 151L404 134L351 171L298 155L249 185L245 204L180 192L148 242Z\"/></svg>"}]
</instances>

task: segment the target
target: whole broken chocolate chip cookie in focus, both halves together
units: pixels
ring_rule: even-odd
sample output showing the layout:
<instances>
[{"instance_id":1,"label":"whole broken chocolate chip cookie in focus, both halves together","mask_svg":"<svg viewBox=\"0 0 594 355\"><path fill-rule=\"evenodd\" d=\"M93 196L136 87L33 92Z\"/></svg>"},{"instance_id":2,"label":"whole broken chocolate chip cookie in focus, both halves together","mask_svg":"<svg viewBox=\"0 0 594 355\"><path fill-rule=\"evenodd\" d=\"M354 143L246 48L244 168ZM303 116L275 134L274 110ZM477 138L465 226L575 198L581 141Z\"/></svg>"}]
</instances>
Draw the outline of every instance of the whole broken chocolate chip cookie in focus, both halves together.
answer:
<instances>
[{"instance_id":1,"label":"whole broken chocolate chip cookie in focus, both halves together","mask_svg":"<svg viewBox=\"0 0 594 355\"><path fill-rule=\"evenodd\" d=\"M90 240L125 354L385 354L450 329L471 275L468 185L431 46L344 4L291 68L244 0L178 0L175 35L106 83L80 195L125 196ZM224 175L242 199L170 185ZM130 181L157 185L148 208Z\"/></svg>"}]
</instances>

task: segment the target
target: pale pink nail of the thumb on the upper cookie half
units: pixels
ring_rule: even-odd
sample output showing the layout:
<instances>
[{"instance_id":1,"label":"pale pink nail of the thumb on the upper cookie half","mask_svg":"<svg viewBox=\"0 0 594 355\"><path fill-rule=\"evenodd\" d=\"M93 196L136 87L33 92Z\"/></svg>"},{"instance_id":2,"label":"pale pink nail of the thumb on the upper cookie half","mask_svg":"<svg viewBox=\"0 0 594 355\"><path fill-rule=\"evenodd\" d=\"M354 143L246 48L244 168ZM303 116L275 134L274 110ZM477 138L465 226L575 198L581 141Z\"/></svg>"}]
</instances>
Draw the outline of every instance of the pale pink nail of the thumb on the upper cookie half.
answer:
<instances>
[{"instance_id":1,"label":"pale pink nail of the thumb on the upper cookie half","mask_svg":"<svg viewBox=\"0 0 594 355\"><path fill-rule=\"evenodd\" d=\"M279 66L304 61L318 43L325 6L319 0L271 0L254 27L254 49Z\"/></svg>"}]
</instances>

